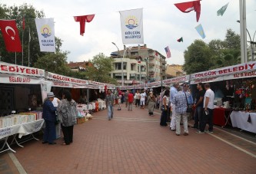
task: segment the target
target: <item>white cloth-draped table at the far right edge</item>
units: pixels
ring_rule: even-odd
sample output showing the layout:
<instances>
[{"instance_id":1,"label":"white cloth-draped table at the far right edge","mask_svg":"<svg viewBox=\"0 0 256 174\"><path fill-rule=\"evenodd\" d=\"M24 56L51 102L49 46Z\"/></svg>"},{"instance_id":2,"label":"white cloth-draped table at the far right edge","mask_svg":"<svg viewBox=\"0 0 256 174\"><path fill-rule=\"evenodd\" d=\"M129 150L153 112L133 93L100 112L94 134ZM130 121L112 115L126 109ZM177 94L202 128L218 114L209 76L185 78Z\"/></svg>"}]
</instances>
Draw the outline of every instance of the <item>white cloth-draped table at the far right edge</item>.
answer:
<instances>
[{"instance_id":1,"label":"white cloth-draped table at the far right edge","mask_svg":"<svg viewBox=\"0 0 256 174\"><path fill-rule=\"evenodd\" d=\"M248 122L249 114L251 117L251 123ZM256 113L233 111L230 117L233 127L238 127L241 130L247 130L251 133L256 133Z\"/></svg>"}]
</instances>

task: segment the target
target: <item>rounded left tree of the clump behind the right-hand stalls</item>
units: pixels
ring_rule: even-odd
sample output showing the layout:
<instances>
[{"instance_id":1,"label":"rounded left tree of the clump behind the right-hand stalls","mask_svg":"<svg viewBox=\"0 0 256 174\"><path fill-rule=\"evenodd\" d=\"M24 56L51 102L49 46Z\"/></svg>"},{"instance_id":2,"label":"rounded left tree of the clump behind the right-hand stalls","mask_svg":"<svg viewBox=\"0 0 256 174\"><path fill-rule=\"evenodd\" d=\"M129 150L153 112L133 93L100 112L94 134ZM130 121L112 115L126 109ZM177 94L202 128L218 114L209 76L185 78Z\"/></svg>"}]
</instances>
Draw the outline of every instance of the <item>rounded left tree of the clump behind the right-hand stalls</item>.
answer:
<instances>
[{"instance_id":1,"label":"rounded left tree of the clump behind the right-hand stalls","mask_svg":"<svg viewBox=\"0 0 256 174\"><path fill-rule=\"evenodd\" d=\"M212 66L211 50L204 41L195 40L188 50L184 52L184 71L193 74L201 71L208 71Z\"/></svg>"}]
</instances>

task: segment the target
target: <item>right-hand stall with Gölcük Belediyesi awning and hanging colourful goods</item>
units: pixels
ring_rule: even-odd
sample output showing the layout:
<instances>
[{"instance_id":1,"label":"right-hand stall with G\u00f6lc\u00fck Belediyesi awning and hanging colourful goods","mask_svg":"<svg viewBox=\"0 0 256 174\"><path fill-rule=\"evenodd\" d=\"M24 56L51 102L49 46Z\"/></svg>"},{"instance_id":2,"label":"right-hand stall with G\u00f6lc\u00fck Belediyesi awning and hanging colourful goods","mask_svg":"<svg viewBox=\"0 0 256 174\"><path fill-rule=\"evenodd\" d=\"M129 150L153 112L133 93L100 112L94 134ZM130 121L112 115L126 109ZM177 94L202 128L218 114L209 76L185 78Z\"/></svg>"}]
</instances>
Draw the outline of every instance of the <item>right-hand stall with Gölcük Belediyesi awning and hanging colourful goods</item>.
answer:
<instances>
[{"instance_id":1,"label":"right-hand stall with G\u00f6lc\u00fck Belediyesi awning and hanging colourful goods","mask_svg":"<svg viewBox=\"0 0 256 174\"><path fill-rule=\"evenodd\" d=\"M244 118L235 121L234 117L238 115L235 113L254 113L256 110L256 62L191 74L190 79L191 84L211 83L211 90L214 90L216 97L216 125L226 126L230 119L231 126L246 125L246 114L240 114Z\"/></svg>"}]
</instances>

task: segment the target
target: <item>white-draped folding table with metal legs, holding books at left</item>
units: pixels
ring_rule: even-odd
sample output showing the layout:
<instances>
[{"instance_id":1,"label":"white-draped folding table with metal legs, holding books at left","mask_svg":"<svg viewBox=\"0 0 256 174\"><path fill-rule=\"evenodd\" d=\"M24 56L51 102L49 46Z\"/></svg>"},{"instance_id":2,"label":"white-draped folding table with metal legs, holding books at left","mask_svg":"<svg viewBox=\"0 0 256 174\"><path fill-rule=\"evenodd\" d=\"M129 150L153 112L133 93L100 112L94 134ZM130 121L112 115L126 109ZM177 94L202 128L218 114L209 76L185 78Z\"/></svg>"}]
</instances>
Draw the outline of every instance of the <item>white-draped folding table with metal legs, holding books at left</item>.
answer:
<instances>
[{"instance_id":1,"label":"white-draped folding table with metal legs, holding books at left","mask_svg":"<svg viewBox=\"0 0 256 174\"><path fill-rule=\"evenodd\" d=\"M21 146L20 143L16 140L16 136L18 135L19 138L26 135L32 135L32 138L37 140L35 136L33 136L32 133L38 132L42 129L42 126L44 125L45 120L36 120L28 123L22 123L14 126L8 126L5 128L0 129L0 140L3 140L4 143L2 147L0 147L0 153L5 152L6 150L10 149L13 153L16 153L15 150L13 150L10 145L8 144L8 137L14 135L14 138L12 140L12 143L15 141L15 143L18 144L18 146ZM11 144L12 144L11 143ZM5 148L5 145L8 147ZM23 146L21 146L23 147ZM3 150L4 149L4 150Z\"/></svg>"}]
</instances>

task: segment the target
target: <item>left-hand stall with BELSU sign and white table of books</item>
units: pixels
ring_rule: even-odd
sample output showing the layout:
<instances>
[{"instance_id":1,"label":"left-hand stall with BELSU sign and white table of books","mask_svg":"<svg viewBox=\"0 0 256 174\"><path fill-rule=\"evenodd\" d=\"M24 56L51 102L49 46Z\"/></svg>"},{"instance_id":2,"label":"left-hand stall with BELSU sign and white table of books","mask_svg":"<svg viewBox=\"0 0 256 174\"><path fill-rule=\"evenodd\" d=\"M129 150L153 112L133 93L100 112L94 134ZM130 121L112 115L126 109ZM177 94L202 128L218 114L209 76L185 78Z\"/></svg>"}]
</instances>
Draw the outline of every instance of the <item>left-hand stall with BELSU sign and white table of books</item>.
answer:
<instances>
[{"instance_id":1,"label":"left-hand stall with BELSU sign and white table of books","mask_svg":"<svg viewBox=\"0 0 256 174\"><path fill-rule=\"evenodd\" d=\"M12 142L21 146L16 140L17 134L20 138L42 129L42 117L37 117L37 113L24 112L42 107L40 84L44 76L45 71L38 68L0 62L1 152L12 150L8 144L10 136L13 136ZM4 149L5 146L8 149Z\"/></svg>"}]
</instances>

